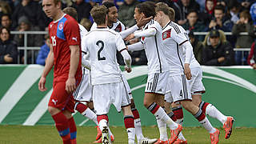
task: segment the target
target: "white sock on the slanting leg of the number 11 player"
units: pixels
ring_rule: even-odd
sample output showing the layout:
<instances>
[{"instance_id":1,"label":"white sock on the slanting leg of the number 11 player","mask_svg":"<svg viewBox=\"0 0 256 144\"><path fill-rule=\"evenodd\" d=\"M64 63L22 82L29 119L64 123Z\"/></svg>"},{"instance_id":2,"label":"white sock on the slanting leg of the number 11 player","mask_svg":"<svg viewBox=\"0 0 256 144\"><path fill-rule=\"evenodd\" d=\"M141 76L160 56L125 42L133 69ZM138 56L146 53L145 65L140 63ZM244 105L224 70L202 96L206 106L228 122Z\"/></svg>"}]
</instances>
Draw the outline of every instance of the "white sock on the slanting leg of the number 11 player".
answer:
<instances>
[{"instance_id":1,"label":"white sock on the slanting leg of the number 11 player","mask_svg":"<svg viewBox=\"0 0 256 144\"><path fill-rule=\"evenodd\" d=\"M165 110L162 109L162 107L159 107L158 110L154 113L154 116L161 119L163 122L166 122L167 126L170 127L171 130L175 130L178 128L178 124L174 122L165 112Z\"/></svg>"}]
</instances>

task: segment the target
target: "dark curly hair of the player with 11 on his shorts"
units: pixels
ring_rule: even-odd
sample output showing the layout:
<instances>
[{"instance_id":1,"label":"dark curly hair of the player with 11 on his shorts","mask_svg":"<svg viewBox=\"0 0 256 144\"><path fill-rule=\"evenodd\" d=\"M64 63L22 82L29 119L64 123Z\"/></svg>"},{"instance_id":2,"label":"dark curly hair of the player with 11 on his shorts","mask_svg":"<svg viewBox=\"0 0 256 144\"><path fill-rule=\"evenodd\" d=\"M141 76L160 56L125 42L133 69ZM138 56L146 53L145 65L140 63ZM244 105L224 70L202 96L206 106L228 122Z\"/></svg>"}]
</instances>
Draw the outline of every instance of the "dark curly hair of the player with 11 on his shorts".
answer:
<instances>
[{"instance_id":1,"label":"dark curly hair of the player with 11 on his shorts","mask_svg":"<svg viewBox=\"0 0 256 144\"><path fill-rule=\"evenodd\" d=\"M150 18L151 16L154 18L156 15L155 7L154 2L142 2L136 6L136 8L138 8L138 12L143 13L146 18Z\"/></svg>"}]
</instances>

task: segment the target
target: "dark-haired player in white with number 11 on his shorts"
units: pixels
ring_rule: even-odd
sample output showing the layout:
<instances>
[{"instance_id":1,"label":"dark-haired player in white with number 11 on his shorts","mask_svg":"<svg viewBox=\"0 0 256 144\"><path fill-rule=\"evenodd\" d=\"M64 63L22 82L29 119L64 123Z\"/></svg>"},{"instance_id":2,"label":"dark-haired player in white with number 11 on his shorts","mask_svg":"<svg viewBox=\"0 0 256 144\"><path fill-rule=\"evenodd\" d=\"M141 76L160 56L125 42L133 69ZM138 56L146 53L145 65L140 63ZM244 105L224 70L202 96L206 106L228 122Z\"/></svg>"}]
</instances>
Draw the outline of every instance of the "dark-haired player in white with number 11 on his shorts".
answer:
<instances>
[{"instance_id":1,"label":"dark-haired player in white with number 11 on his shorts","mask_svg":"<svg viewBox=\"0 0 256 144\"><path fill-rule=\"evenodd\" d=\"M154 2L142 2L135 7L134 18L136 21L140 18L149 18L155 16ZM175 123L163 110L163 96L166 93L166 80L168 78L168 66L166 55L162 48L162 27L158 22L151 20L143 26L142 30L130 34L129 38L141 38L141 42L128 46L128 50L145 49L148 60L148 79L144 96L144 106L154 116L157 121L164 122L170 127L170 143L178 138L182 131L182 126ZM159 129L159 131L162 131Z\"/></svg>"}]
</instances>

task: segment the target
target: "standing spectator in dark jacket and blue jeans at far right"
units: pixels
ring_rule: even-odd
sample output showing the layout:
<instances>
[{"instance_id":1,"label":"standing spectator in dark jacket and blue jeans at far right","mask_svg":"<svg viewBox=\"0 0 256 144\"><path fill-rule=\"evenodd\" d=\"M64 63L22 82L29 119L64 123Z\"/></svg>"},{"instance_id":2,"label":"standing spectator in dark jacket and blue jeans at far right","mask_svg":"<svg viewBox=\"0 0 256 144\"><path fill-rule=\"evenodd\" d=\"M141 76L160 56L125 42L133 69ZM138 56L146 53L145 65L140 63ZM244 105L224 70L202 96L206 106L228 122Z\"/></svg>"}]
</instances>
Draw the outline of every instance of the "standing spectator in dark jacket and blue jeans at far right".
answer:
<instances>
[{"instance_id":1,"label":"standing spectator in dark jacket and blue jeans at far right","mask_svg":"<svg viewBox=\"0 0 256 144\"><path fill-rule=\"evenodd\" d=\"M240 14L240 19L233 26L232 34L237 37L235 42L236 48L248 48L254 42L254 24L250 18L250 13L248 10L242 11ZM248 35L240 35L242 32L248 32ZM248 52L242 53L242 51L235 52L235 63L236 65L241 65L246 63L246 58Z\"/></svg>"}]
</instances>

